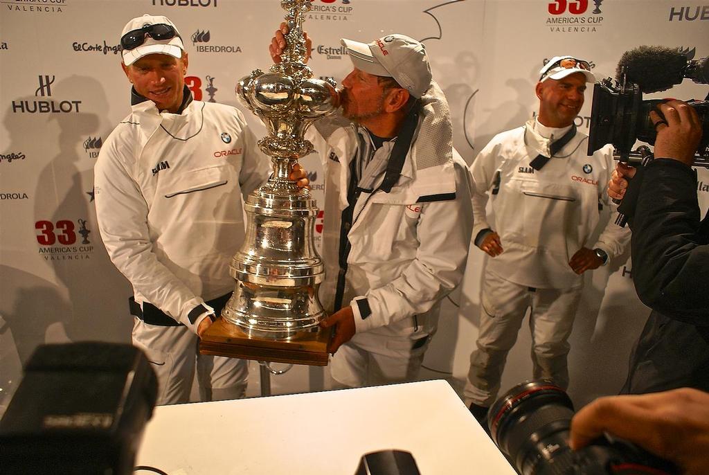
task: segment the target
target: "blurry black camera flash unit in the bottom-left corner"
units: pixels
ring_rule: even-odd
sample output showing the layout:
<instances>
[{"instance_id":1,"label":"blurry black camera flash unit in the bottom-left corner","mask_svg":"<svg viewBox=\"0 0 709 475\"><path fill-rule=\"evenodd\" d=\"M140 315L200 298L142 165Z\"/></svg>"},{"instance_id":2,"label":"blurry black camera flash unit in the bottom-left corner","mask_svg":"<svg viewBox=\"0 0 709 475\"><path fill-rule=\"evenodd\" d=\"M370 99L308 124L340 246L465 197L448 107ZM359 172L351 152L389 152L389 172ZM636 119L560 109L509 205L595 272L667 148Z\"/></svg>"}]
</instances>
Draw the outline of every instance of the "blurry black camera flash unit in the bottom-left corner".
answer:
<instances>
[{"instance_id":1,"label":"blurry black camera flash unit in the bottom-left corner","mask_svg":"<svg viewBox=\"0 0 709 475\"><path fill-rule=\"evenodd\" d=\"M0 421L0 471L131 474L156 399L155 371L136 347L40 345Z\"/></svg>"}]
</instances>

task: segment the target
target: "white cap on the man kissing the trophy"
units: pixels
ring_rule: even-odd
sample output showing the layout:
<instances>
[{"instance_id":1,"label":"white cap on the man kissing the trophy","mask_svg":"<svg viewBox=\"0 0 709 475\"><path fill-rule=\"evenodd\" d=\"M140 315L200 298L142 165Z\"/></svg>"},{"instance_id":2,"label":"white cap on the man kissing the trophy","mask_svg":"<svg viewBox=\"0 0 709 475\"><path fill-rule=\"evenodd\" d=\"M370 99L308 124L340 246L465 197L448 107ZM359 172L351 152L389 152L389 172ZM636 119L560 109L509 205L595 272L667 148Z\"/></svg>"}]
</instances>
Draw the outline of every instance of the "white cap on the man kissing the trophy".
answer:
<instances>
[{"instance_id":1,"label":"white cap on the man kissing the trophy","mask_svg":"<svg viewBox=\"0 0 709 475\"><path fill-rule=\"evenodd\" d=\"M347 48L352 65L369 74L393 77L415 98L431 84L431 67L423 43L406 35L386 35L372 41L340 40Z\"/></svg>"}]
</instances>

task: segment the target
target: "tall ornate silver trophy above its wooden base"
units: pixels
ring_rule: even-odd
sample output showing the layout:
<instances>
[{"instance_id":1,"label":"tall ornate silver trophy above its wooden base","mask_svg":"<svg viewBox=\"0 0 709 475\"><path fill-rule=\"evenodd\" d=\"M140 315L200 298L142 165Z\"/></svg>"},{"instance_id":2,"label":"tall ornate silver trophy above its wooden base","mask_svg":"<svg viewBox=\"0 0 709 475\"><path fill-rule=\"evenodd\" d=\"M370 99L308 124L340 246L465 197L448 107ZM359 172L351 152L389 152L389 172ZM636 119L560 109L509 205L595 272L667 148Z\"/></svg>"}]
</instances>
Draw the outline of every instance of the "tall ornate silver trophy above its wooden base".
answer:
<instances>
[{"instance_id":1,"label":"tall ornate silver trophy above its wooden base","mask_svg":"<svg viewBox=\"0 0 709 475\"><path fill-rule=\"evenodd\" d=\"M335 111L332 81L313 79L306 65L303 16L310 0L281 0L290 27L281 62L240 80L236 95L266 125L259 140L272 157L273 174L246 199L244 244L231 262L236 289L222 317L249 337L293 340L314 333L325 311L318 288L325 276L313 239L318 214L308 189L289 180L291 167L313 150L303 138L316 119Z\"/></svg>"}]
</instances>

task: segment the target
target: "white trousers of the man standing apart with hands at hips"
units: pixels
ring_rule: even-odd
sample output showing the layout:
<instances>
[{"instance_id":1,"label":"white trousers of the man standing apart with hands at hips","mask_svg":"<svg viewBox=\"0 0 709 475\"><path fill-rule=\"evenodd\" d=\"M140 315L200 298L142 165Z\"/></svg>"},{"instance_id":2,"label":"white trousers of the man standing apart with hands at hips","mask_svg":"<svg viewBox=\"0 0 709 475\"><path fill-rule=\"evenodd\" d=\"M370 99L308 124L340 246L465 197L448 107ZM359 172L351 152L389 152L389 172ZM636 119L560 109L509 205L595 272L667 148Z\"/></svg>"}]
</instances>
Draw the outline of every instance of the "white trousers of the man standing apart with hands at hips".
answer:
<instances>
[{"instance_id":1,"label":"white trousers of the man standing apart with hands at hips","mask_svg":"<svg viewBox=\"0 0 709 475\"><path fill-rule=\"evenodd\" d=\"M569 386L569 335L583 287L531 289L491 272L483 281L477 350L470 355L464 401L489 407L500 390L507 354L517 341L527 308L531 307L532 364L535 379ZM523 381L519 381L520 383Z\"/></svg>"}]
</instances>

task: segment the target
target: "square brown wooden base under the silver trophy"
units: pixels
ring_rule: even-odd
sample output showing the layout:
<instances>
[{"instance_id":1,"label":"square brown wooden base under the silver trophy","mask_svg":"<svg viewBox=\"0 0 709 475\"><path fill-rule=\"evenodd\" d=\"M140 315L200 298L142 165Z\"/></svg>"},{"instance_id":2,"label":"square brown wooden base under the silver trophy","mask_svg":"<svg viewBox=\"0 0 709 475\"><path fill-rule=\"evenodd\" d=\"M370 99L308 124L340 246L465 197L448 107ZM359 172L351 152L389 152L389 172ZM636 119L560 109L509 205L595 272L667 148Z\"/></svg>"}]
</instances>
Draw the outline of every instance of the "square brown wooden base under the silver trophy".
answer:
<instances>
[{"instance_id":1,"label":"square brown wooden base under the silver trophy","mask_svg":"<svg viewBox=\"0 0 709 475\"><path fill-rule=\"evenodd\" d=\"M217 318L202 335L201 354L214 354L257 361L328 366L331 328L301 332L291 340L250 337L233 323Z\"/></svg>"}]
</instances>

